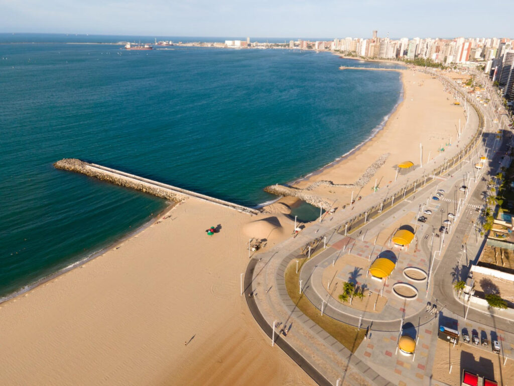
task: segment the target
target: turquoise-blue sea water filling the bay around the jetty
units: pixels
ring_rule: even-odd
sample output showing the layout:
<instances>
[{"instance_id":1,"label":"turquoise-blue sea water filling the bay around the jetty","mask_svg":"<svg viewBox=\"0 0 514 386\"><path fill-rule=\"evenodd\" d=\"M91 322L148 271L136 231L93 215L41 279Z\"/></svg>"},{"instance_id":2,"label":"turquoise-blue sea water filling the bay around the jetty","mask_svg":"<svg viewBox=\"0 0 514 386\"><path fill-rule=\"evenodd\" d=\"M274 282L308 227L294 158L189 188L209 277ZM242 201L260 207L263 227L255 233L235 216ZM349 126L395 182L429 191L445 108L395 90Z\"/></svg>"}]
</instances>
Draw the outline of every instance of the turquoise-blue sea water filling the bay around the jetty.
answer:
<instances>
[{"instance_id":1,"label":"turquoise-blue sea water filling the bay around the jetty","mask_svg":"<svg viewBox=\"0 0 514 386\"><path fill-rule=\"evenodd\" d=\"M266 185L301 178L368 138L401 92L397 73L339 71L359 62L328 53L137 52L69 39L0 34L0 296L166 205L53 162L77 157L255 206L273 198ZM135 39L101 41L120 40Z\"/></svg>"}]
</instances>

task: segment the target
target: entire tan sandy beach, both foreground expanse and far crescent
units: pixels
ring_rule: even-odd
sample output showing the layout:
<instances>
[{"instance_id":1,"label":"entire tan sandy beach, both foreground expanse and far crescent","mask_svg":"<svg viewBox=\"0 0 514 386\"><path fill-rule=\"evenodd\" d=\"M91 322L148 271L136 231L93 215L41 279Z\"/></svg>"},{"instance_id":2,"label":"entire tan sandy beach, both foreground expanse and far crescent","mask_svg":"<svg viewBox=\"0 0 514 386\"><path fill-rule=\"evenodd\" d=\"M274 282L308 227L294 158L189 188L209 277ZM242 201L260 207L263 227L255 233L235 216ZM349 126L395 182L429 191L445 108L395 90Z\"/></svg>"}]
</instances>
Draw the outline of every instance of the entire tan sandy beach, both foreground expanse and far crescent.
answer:
<instances>
[{"instance_id":1,"label":"entire tan sandy beach, both foreground expanse and far crescent","mask_svg":"<svg viewBox=\"0 0 514 386\"><path fill-rule=\"evenodd\" d=\"M404 100L386 127L357 152L297 184L354 183L383 153L385 164L356 196L387 188L396 165L419 164L456 146L462 107L430 76L402 70ZM446 146L444 146L446 147ZM352 189L310 191L339 205ZM249 216L188 199L139 234L40 287L0 305L1 384L311 385L269 339L240 295L248 240L266 250L290 237L284 198ZM338 205L336 205L338 206ZM163 217L167 217L163 219ZM206 234L218 226L213 236ZM261 294L264 295L264 294Z\"/></svg>"}]
</instances>

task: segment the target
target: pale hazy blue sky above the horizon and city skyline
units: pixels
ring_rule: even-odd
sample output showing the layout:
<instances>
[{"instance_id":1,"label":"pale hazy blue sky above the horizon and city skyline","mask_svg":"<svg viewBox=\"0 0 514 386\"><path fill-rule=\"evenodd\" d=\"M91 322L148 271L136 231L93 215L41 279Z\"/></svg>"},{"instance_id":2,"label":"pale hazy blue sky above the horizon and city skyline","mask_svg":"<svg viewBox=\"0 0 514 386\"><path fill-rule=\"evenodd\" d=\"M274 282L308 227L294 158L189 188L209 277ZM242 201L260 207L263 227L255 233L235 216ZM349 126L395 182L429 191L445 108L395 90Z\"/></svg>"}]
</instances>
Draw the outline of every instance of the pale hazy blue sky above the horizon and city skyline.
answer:
<instances>
[{"instance_id":1,"label":"pale hazy blue sky above the horizon and city skyline","mask_svg":"<svg viewBox=\"0 0 514 386\"><path fill-rule=\"evenodd\" d=\"M0 0L0 32L514 37L513 7L512 0Z\"/></svg>"}]
</instances>

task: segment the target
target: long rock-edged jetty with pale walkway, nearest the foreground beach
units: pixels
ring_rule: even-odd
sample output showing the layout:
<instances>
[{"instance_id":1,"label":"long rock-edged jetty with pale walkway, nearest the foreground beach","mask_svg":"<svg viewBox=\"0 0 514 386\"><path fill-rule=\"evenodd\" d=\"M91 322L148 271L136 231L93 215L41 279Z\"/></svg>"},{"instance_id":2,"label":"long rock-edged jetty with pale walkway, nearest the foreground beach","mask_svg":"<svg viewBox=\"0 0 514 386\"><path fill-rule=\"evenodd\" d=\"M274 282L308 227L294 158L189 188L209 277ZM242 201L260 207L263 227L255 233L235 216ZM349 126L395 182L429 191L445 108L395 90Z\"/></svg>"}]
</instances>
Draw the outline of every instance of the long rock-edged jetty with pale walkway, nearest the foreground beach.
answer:
<instances>
[{"instance_id":1,"label":"long rock-edged jetty with pale walkway, nearest the foreground beach","mask_svg":"<svg viewBox=\"0 0 514 386\"><path fill-rule=\"evenodd\" d=\"M111 182L113 184L142 191L144 193L164 198L167 200L180 202L188 198L211 202L213 204L222 205L238 212L247 213L249 215L257 215L261 213L259 210L249 208L247 206L234 204L232 202L219 200L196 193L191 190L178 188L176 186L153 181L148 178L136 176L135 174L125 173L124 171L108 168L106 166L91 164L78 160L76 158L65 158L53 164L56 169L73 171L94 177L98 180Z\"/></svg>"}]
</instances>

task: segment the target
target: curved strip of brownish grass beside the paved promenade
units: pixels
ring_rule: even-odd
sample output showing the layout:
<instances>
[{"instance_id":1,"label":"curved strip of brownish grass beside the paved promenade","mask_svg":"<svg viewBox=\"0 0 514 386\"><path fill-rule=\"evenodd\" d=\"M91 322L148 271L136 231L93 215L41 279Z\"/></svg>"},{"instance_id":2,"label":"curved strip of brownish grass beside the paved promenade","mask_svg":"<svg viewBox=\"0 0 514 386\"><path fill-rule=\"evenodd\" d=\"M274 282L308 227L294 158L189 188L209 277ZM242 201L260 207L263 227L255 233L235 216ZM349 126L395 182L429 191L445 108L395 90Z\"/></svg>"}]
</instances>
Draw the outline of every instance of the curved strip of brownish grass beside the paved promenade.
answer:
<instances>
[{"instance_id":1,"label":"curved strip of brownish grass beside the paved promenade","mask_svg":"<svg viewBox=\"0 0 514 386\"><path fill-rule=\"evenodd\" d=\"M298 271L307 259L299 259ZM289 262L285 271L285 283L287 293L291 300L296 304L298 309L302 311L311 321L323 328L328 334L349 349L352 353L359 347L364 339L365 330L347 325L343 322L335 320L327 315L321 316L321 312L317 309L302 293L299 293L299 274L296 273L296 259Z\"/></svg>"}]
</instances>

